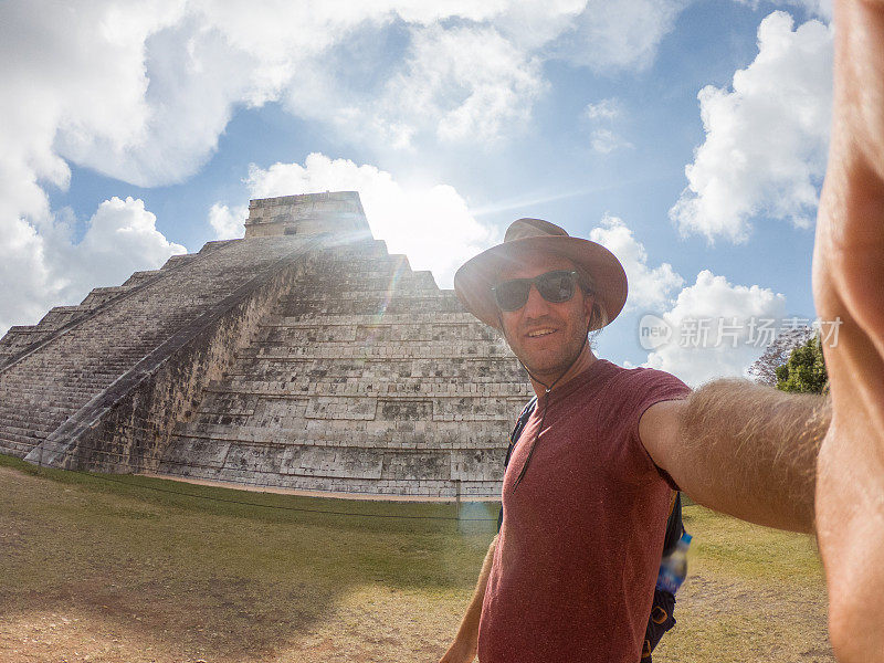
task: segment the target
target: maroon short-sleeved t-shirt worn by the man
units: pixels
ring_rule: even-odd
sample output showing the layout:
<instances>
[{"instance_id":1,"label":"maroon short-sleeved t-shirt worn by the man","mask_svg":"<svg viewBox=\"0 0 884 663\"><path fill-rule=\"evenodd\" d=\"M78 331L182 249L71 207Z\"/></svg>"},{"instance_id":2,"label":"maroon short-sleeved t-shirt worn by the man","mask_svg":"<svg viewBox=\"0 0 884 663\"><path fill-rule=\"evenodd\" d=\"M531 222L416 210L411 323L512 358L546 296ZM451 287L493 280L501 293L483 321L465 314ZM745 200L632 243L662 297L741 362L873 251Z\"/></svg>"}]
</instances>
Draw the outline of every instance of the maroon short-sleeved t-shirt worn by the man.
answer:
<instances>
[{"instance_id":1,"label":"maroon short-sleeved t-shirt worn by the man","mask_svg":"<svg viewBox=\"0 0 884 663\"><path fill-rule=\"evenodd\" d=\"M636 663L672 490L639 439L653 403L684 398L670 373L603 359L540 399L504 476L504 520L485 590L481 663Z\"/></svg>"}]
</instances>

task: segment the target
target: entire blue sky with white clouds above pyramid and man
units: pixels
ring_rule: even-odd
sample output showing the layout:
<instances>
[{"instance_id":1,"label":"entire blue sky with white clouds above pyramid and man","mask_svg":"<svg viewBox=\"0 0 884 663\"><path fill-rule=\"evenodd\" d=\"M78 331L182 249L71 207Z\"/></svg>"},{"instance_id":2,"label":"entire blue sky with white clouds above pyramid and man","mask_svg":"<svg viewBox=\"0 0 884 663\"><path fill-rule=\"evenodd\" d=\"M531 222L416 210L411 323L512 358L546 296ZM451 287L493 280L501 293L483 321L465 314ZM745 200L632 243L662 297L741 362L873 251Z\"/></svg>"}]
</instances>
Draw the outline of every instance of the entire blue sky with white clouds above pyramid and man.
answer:
<instances>
[{"instance_id":1,"label":"entire blue sky with white clouds above pyramid and man","mask_svg":"<svg viewBox=\"0 0 884 663\"><path fill-rule=\"evenodd\" d=\"M354 188L443 287L519 217L608 245L599 354L691 383L814 316L824 2L42 4L0 6L0 333L241 236L250 198ZM678 343L722 316L737 347Z\"/></svg>"}]
</instances>

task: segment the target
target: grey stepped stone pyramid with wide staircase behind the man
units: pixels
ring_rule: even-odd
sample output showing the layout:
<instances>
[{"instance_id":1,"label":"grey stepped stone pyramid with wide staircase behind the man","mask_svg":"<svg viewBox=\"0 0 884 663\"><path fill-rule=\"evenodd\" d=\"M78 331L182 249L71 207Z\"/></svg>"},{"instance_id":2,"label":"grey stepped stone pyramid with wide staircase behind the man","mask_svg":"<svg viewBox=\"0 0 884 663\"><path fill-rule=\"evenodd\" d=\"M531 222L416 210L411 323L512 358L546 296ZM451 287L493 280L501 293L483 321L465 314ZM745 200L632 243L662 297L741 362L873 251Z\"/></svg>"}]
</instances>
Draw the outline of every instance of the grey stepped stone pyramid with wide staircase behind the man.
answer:
<instances>
[{"instance_id":1,"label":"grey stepped stone pyramid with wide staircase behind the man","mask_svg":"<svg viewBox=\"0 0 884 663\"><path fill-rule=\"evenodd\" d=\"M0 453L377 495L499 494L529 386L371 236L356 192L253 200L209 242L0 340Z\"/></svg>"}]
</instances>

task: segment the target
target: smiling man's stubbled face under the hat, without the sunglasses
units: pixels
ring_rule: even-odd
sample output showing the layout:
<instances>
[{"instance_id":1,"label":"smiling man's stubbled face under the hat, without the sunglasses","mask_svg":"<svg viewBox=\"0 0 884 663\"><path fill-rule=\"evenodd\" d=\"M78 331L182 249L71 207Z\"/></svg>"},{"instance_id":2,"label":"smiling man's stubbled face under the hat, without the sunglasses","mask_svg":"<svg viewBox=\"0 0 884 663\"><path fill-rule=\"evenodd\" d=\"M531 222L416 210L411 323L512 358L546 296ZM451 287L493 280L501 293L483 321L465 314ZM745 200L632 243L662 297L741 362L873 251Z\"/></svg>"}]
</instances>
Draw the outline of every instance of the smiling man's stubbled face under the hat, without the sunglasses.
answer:
<instances>
[{"instance_id":1,"label":"smiling man's stubbled face under the hat, without the sunglasses","mask_svg":"<svg viewBox=\"0 0 884 663\"><path fill-rule=\"evenodd\" d=\"M532 255L505 271L499 282L573 269L573 263L566 257ZM579 286L570 299L554 304L544 299L532 285L525 306L501 312L506 340L534 376L557 378L568 369L583 345L592 303L592 296Z\"/></svg>"}]
</instances>

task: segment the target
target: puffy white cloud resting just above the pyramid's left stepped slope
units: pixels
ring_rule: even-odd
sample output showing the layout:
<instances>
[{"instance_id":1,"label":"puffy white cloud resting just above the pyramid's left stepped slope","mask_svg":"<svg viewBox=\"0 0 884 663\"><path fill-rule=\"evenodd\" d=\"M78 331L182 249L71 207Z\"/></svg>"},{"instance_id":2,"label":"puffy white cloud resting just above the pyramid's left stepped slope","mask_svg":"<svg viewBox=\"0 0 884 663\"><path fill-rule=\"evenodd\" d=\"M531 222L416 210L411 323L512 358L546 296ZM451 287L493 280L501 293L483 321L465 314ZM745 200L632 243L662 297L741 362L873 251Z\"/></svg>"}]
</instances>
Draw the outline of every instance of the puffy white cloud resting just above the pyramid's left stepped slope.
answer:
<instances>
[{"instance_id":1,"label":"puffy white cloud resting just above the pyramid's left stepped slope","mask_svg":"<svg viewBox=\"0 0 884 663\"><path fill-rule=\"evenodd\" d=\"M13 324L34 324L52 306L80 303L93 287L119 285L133 272L161 266L185 253L156 229L144 201L112 198L98 207L80 243L71 214L7 221L0 244L0 335Z\"/></svg>"}]
</instances>

